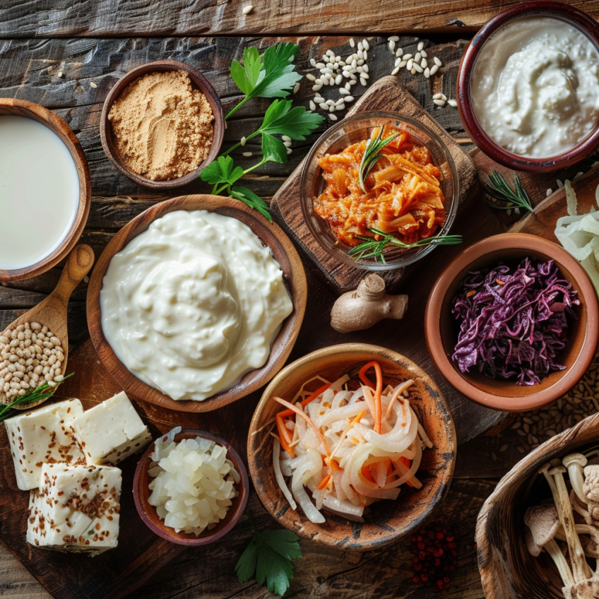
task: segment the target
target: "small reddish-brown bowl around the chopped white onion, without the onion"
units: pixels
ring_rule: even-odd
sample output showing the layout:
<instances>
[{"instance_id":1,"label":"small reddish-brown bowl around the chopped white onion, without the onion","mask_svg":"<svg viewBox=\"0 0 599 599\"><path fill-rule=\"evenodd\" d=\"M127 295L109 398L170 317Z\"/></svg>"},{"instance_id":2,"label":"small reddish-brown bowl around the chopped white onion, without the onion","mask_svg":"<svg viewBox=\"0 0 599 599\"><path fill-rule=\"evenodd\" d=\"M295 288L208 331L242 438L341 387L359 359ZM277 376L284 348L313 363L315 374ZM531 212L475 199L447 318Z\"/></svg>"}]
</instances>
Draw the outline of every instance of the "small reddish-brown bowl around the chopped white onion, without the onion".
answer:
<instances>
[{"instance_id":1,"label":"small reddish-brown bowl around the chopped white onion, without the onion","mask_svg":"<svg viewBox=\"0 0 599 599\"><path fill-rule=\"evenodd\" d=\"M247 478L247 470L245 465L242 461L242 458L239 457L239 453L237 453L237 451L235 451L235 449L233 449L232 446L225 441L225 439L221 439L221 437L206 431L184 429L182 432L179 432L175 435L174 440L179 442L183 439L195 439L196 437L202 437L203 439L216 441L216 443L225 447L225 449L227 449L227 459L232 461L233 465L235 466L235 470L237 470L242 479L239 483L235 484L238 492L237 497L232 500L232 505L229 507L225 518L223 518L223 520L221 520L218 525L215 526L215 528L212 530L204 530L203 533L201 533L201 535L198 537L196 537L196 535L193 533L176 533L174 528L165 526L164 521L158 517L156 508L148 504L148 499L152 493L150 491L150 487L148 486L152 480L152 477L150 477L148 474L148 470L150 468L150 463L152 462L150 454L154 453L153 443L150 444L148 449L146 449L146 451L143 453L143 456L141 456L141 459L138 462L137 468L135 470L135 478L133 482L135 506L139 516L146 526L148 526L148 528L150 528L150 530L156 533L159 537L162 537L167 541L177 543L177 545L187 545L188 547L209 545L211 542L215 542L221 537L224 537L243 516L244 509L247 504L247 497L249 495L249 481Z\"/></svg>"}]
</instances>

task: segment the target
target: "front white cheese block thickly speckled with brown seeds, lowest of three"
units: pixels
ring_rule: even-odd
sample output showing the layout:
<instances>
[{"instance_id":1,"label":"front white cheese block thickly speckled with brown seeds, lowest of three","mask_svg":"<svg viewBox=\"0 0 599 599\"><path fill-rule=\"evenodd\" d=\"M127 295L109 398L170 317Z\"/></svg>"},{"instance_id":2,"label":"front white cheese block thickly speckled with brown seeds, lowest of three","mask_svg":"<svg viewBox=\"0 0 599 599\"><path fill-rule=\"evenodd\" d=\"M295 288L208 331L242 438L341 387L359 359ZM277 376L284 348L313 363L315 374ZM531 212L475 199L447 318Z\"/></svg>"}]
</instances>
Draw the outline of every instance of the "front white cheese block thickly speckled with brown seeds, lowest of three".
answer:
<instances>
[{"instance_id":1,"label":"front white cheese block thickly speckled with brown seeds, lowest of three","mask_svg":"<svg viewBox=\"0 0 599 599\"><path fill-rule=\"evenodd\" d=\"M27 542L91 555L117 547L120 497L119 468L44 464L30 494Z\"/></svg>"}]
</instances>

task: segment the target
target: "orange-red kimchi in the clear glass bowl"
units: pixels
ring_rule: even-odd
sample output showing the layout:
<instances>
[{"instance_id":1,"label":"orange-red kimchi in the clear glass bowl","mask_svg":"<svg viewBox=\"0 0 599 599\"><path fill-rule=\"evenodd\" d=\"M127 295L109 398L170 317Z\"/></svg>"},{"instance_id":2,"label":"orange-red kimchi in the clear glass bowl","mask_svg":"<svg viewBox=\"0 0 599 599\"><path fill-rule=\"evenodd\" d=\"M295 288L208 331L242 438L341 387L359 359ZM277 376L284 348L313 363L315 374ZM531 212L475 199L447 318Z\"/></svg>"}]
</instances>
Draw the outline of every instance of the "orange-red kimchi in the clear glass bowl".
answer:
<instances>
[{"instance_id":1,"label":"orange-red kimchi in the clear glass bowl","mask_svg":"<svg viewBox=\"0 0 599 599\"><path fill-rule=\"evenodd\" d=\"M379 134L372 131L371 138ZM389 124L382 138L398 134L380 150L380 158L360 186L360 162L367 140L319 160L324 190L313 199L314 213L326 220L338 242L360 244L376 237L372 229L405 244L434 236L445 220L441 172L426 146Z\"/></svg>"}]
</instances>

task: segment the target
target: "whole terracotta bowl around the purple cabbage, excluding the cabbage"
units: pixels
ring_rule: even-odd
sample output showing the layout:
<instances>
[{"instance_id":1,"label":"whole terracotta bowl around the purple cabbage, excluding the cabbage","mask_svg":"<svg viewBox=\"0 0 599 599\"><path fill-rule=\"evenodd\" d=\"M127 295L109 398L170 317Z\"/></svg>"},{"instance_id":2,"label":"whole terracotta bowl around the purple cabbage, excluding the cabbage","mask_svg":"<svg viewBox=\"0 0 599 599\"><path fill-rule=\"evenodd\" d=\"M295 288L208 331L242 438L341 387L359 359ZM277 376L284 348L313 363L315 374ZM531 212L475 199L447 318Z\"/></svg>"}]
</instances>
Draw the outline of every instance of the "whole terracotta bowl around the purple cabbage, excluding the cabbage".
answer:
<instances>
[{"instance_id":1,"label":"whole terracotta bowl around the purple cabbage, excluding the cabbage","mask_svg":"<svg viewBox=\"0 0 599 599\"><path fill-rule=\"evenodd\" d=\"M465 275L477 268L497 266L500 262L518 263L526 256L553 259L564 278L578 292L579 317L569 327L569 340L558 363L566 368L552 372L540 384L516 385L506 379L491 379L479 372L463 374L451 360L458 340L458 324L451 315L451 302ZM578 261L547 239L523 233L487 237L461 251L434 284L425 312L425 336L430 355L441 374L465 396L486 408L525 412L555 401L567 393L588 369L599 339L599 306L591 281Z\"/></svg>"}]
</instances>

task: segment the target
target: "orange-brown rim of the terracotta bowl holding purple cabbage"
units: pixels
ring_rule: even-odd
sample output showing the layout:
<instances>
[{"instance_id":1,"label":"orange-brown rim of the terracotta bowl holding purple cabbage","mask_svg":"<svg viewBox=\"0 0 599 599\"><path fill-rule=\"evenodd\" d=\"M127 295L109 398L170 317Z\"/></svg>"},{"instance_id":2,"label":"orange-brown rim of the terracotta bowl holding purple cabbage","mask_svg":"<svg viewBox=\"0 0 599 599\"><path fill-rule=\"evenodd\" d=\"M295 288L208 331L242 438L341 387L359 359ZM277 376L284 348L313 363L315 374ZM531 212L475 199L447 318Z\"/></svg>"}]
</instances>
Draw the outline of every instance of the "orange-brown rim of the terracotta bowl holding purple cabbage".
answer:
<instances>
[{"instance_id":1,"label":"orange-brown rim of the terracotta bowl holding purple cabbage","mask_svg":"<svg viewBox=\"0 0 599 599\"><path fill-rule=\"evenodd\" d=\"M483 256L494 254L500 251L509 250L534 251L542 254L548 259L554 259L557 266L560 267L564 278L566 274L564 268L571 274L571 279L580 288L579 299L583 302L586 311L586 317L579 320L576 336L584 336L581 350L576 355L574 364L553 375L561 374L552 386L542 391L535 391L535 386L526 387L524 390L530 390L527 395L509 395L490 393L479 389L470 382L469 374L461 374L456 366L446 355L444 350L444 336L441 333L440 319L441 309L449 288L458 280L459 282L471 268L471 265ZM499 258L500 260L500 258ZM459 285L458 282L458 285ZM572 389L582 378L583 374L595 357L599 340L599 304L595 295L595 289L585 273L581 264L574 259L568 252L548 239L538 237L537 235L528 235L526 233L502 233L482 239L480 242L470 245L463 249L456 258L449 263L443 273L434 283L430 292L427 309L425 311L425 337L427 348L434 364L441 374L463 393L471 401L484 405L485 408L494 410L504 410L507 412L526 412L535 410L542 406L549 405L557 400L570 389ZM568 343L573 343L573 338ZM494 380L494 379L489 379ZM505 389L509 386L516 387L511 381L505 381ZM520 389L522 389L520 387ZM505 393L505 392L503 392Z\"/></svg>"}]
</instances>

